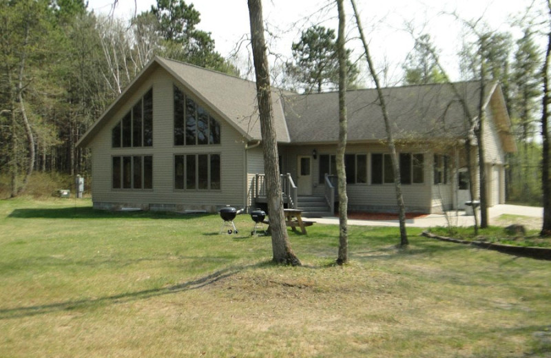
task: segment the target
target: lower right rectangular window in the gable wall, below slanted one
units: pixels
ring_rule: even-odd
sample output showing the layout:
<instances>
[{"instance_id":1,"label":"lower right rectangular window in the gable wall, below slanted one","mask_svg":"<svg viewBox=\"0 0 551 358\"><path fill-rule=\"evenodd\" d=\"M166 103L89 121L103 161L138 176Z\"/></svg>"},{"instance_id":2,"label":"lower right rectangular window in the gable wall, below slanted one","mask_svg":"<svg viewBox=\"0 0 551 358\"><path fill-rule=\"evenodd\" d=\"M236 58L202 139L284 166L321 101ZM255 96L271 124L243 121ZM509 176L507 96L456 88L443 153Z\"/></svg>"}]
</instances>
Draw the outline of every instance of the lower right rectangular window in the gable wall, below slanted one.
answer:
<instances>
[{"instance_id":1,"label":"lower right rectangular window in the gable wall, below slanted one","mask_svg":"<svg viewBox=\"0 0 551 358\"><path fill-rule=\"evenodd\" d=\"M220 190L220 154L174 156L174 189Z\"/></svg>"}]
</instances>

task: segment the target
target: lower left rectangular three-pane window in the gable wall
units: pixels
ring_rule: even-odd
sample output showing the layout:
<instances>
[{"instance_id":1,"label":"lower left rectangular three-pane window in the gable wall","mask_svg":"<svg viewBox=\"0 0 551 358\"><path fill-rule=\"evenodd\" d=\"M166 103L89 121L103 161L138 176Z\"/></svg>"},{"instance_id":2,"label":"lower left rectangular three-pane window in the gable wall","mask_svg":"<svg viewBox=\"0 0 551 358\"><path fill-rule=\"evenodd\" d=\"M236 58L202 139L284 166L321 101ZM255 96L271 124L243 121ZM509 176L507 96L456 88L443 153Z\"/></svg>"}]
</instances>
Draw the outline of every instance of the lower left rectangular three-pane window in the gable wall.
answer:
<instances>
[{"instance_id":1,"label":"lower left rectangular three-pane window in the gable wall","mask_svg":"<svg viewBox=\"0 0 551 358\"><path fill-rule=\"evenodd\" d=\"M153 189L153 157L112 157L112 187L113 189Z\"/></svg>"}]
</instances>

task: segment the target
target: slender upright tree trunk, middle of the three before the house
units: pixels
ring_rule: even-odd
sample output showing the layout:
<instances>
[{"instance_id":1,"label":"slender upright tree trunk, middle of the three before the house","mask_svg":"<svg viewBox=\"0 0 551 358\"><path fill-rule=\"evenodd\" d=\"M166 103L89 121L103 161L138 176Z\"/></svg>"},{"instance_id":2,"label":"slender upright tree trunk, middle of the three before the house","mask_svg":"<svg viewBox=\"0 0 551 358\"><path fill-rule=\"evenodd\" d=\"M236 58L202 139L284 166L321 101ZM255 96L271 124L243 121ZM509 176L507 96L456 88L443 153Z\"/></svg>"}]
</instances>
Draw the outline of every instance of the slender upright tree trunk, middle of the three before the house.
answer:
<instances>
[{"instance_id":1,"label":"slender upright tree trunk, middle of the three before the house","mask_svg":"<svg viewBox=\"0 0 551 358\"><path fill-rule=\"evenodd\" d=\"M339 34L337 37L337 56L339 57L339 143L337 143L337 178L339 189L339 253L337 264L349 262L349 233L348 233L348 204L349 197L346 194L346 170L344 168L344 152L346 151L346 138L348 135L348 123L346 119L346 50L344 49L344 6L342 0L337 0L339 11Z\"/></svg>"}]
</instances>

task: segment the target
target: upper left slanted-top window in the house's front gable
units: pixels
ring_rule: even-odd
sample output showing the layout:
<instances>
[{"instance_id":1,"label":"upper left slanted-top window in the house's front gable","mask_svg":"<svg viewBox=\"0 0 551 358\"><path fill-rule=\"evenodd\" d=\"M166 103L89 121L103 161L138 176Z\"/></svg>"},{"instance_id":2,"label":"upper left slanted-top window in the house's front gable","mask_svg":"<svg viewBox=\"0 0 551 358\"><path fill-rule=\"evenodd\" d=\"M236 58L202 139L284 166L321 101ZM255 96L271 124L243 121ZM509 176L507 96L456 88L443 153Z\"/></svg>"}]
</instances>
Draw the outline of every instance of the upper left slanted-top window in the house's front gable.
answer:
<instances>
[{"instance_id":1,"label":"upper left slanted-top window in the house's front gable","mask_svg":"<svg viewBox=\"0 0 551 358\"><path fill-rule=\"evenodd\" d=\"M112 147L153 145L153 90L147 93L112 129Z\"/></svg>"}]
</instances>

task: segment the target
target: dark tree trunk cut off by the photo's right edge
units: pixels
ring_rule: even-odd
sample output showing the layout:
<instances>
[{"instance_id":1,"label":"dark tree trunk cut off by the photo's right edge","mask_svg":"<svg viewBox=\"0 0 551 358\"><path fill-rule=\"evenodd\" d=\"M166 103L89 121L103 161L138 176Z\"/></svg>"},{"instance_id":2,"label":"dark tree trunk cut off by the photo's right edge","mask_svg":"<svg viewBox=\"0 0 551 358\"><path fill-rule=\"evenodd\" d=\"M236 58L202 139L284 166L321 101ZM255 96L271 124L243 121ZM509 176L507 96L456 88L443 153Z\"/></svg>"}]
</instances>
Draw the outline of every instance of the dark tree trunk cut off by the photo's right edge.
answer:
<instances>
[{"instance_id":1,"label":"dark tree trunk cut off by the photo's right edge","mask_svg":"<svg viewBox=\"0 0 551 358\"><path fill-rule=\"evenodd\" d=\"M551 1L547 0L549 21L551 22ZM551 30L548 32L547 50L543 61L543 99L541 103L541 136L543 138L543 153L541 160L541 189L543 190L543 225L541 236L551 236L551 178L549 167L551 165L549 144L549 61L551 56Z\"/></svg>"}]
</instances>

